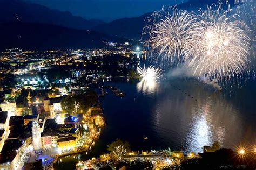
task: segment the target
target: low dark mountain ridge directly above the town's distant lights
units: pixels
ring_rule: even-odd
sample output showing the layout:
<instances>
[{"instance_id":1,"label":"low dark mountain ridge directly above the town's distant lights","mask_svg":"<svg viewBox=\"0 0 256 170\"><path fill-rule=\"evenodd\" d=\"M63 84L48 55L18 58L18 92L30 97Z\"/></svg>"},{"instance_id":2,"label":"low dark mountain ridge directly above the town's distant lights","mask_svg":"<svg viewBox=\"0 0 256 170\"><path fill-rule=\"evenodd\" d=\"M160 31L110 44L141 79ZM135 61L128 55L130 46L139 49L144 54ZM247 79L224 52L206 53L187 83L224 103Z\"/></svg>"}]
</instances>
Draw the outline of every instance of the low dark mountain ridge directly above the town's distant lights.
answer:
<instances>
[{"instance_id":1,"label":"low dark mountain ridge directly above the town's distant lights","mask_svg":"<svg viewBox=\"0 0 256 170\"><path fill-rule=\"evenodd\" d=\"M1 23L0 30L1 51L15 47L26 50L100 48L105 46L103 41L132 43L95 31L49 24Z\"/></svg>"}]
</instances>

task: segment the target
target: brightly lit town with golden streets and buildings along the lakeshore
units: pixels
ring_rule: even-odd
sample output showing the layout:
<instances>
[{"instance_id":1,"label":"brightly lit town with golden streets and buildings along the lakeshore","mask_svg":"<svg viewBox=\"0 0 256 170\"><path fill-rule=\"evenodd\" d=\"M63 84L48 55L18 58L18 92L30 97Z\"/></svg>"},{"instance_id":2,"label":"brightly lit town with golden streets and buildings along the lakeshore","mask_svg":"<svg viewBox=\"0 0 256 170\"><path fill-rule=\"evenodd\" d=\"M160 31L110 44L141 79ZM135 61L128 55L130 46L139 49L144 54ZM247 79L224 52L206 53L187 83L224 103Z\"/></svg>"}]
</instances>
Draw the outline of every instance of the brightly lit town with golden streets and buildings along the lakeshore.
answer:
<instances>
[{"instance_id":1,"label":"brightly lit town with golden streets and buildings along the lakeshore","mask_svg":"<svg viewBox=\"0 0 256 170\"><path fill-rule=\"evenodd\" d=\"M90 151L104 128L99 79L135 76L146 52L129 43L104 49L1 54L1 164L52 168L58 157ZM122 91L112 88L117 96Z\"/></svg>"}]
</instances>

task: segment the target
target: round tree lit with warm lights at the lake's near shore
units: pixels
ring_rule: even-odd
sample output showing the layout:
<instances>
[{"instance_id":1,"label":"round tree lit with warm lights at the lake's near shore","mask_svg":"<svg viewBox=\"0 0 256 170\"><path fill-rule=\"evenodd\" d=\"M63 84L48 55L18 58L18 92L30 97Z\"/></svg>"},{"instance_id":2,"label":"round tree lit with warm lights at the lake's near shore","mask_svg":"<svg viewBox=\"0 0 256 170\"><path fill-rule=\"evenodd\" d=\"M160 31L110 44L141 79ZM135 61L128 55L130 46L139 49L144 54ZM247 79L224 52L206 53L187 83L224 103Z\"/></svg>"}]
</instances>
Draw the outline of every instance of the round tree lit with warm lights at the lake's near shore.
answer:
<instances>
[{"instance_id":1,"label":"round tree lit with warm lights at the lake's near shore","mask_svg":"<svg viewBox=\"0 0 256 170\"><path fill-rule=\"evenodd\" d=\"M127 141L116 139L112 144L107 145L107 150L117 160L122 160L124 156L131 151L130 144Z\"/></svg>"}]
</instances>

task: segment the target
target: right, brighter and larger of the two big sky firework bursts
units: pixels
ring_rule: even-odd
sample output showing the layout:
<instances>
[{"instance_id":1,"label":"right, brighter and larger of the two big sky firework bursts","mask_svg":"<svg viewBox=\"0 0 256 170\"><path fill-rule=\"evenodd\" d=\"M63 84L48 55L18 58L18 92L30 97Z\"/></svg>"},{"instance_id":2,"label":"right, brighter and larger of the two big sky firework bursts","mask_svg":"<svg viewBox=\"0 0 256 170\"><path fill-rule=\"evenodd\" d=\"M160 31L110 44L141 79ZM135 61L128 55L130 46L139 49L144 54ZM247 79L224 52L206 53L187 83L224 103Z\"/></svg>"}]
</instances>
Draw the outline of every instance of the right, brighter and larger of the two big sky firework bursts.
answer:
<instances>
[{"instance_id":1,"label":"right, brighter and larger of the two big sky firework bursts","mask_svg":"<svg viewBox=\"0 0 256 170\"><path fill-rule=\"evenodd\" d=\"M194 36L185 60L194 74L204 75L210 80L230 80L247 67L250 39L246 36L246 25L229 15L230 11L220 13L209 8L201 12L200 31Z\"/></svg>"}]
</instances>

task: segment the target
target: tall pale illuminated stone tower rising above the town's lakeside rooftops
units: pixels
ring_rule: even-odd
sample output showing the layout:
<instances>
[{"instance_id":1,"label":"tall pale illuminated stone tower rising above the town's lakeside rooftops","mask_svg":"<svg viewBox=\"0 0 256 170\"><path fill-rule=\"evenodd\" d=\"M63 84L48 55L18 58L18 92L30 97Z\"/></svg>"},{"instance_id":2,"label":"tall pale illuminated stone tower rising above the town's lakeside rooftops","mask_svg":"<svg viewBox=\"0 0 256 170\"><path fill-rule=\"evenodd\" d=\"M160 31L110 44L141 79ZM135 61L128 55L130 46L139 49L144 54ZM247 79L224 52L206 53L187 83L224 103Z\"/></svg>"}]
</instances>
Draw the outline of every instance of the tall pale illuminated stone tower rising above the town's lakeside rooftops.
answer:
<instances>
[{"instance_id":1,"label":"tall pale illuminated stone tower rising above the town's lakeside rooftops","mask_svg":"<svg viewBox=\"0 0 256 170\"><path fill-rule=\"evenodd\" d=\"M39 151L42 149L41 143L41 133L40 133L40 126L38 122L33 122L32 125L32 139L33 139L33 148L35 151Z\"/></svg>"}]
</instances>

